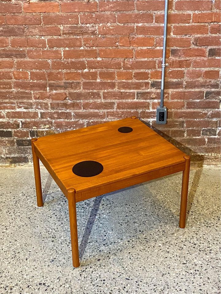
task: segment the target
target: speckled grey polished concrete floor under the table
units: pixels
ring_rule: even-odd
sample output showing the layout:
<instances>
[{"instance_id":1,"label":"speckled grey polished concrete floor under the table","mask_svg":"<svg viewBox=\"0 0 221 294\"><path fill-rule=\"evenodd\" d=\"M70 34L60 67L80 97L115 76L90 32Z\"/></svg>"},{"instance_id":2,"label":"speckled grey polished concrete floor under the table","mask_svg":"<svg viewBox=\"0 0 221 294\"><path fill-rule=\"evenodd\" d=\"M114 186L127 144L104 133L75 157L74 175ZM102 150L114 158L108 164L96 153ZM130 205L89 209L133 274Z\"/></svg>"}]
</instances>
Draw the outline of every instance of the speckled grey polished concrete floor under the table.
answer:
<instances>
[{"instance_id":1,"label":"speckled grey polished concrete floor under the table","mask_svg":"<svg viewBox=\"0 0 221 294\"><path fill-rule=\"evenodd\" d=\"M31 166L0 168L0 293L220 293L220 170L182 174L77 203L81 265L72 267L68 203L44 167L43 207Z\"/></svg>"}]
</instances>

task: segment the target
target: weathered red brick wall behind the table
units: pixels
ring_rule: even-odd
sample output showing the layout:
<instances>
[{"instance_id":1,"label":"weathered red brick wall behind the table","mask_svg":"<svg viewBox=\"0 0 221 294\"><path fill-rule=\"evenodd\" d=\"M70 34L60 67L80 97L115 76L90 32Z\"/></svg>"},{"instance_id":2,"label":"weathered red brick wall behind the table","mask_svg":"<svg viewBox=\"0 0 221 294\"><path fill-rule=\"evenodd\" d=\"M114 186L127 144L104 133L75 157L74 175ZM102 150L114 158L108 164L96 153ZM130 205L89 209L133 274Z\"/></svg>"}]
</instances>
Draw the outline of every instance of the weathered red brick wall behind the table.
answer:
<instances>
[{"instance_id":1,"label":"weathered red brick wall behind the table","mask_svg":"<svg viewBox=\"0 0 221 294\"><path fill-rule=\"evenodd\" d=\"M30 161L32 137L131 115L217 161L220 1L169 8L160 126L164 1L0 1L0 162Z\"/></svg>"}]
</instances>

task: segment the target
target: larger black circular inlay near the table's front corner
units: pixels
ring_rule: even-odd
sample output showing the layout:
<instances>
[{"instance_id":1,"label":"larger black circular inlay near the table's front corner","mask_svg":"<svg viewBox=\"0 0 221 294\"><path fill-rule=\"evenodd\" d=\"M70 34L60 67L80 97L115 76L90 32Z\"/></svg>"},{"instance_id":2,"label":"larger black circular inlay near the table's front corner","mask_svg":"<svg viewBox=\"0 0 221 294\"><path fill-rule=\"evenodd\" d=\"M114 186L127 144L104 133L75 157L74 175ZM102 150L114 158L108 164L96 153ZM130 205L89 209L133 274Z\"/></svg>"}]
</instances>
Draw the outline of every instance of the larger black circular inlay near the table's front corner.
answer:
<instances>
[{"instance_id":1,"label":"larger black circular inlay near the table's front corner","mask_svg":"<svg viewBox=\"0 0 221 294\"><path fill-rule=\"evenodd\" d=\"M79 177L94 177L103 171L103 165L97 161L85 160L76 163L72 171Z\"/></svg>"}]
</instances>

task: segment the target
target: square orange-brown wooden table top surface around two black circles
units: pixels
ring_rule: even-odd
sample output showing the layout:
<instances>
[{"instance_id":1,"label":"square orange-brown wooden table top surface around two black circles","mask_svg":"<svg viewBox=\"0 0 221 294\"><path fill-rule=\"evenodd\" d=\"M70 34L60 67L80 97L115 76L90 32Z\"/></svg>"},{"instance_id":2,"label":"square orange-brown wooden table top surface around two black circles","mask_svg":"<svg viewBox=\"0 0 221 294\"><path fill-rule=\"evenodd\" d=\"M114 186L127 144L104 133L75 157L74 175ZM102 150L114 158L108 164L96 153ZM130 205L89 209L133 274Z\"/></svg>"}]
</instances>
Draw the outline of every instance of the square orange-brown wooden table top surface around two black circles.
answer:
<instances>
[{"instance_id":1,"label":"square orange-brown wooden table top surface around two black circles","mask_svg":"<svg viewBox=\"0 0 221 294\"><path fill-rule=\"evenodd\" d=\"M121 133L123 126L133 130ZM65 189L76 193L185 162L185 153L137 118L41 137L34 148ZM92 177L75 175L73 166L84 160L98 161L103 171Z\"/></svg>"}]
</instances>

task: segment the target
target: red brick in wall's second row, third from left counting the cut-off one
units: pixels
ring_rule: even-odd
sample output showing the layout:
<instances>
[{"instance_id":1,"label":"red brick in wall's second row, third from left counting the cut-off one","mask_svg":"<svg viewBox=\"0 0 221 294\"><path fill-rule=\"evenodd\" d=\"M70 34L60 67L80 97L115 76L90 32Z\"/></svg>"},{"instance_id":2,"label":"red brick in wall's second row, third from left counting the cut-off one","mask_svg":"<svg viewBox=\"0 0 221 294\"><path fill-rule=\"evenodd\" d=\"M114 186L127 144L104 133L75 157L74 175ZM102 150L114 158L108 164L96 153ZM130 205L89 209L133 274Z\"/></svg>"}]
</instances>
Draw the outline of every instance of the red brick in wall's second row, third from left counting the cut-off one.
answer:
<instances>
[{"instance_id":1,"label":"red brick in wall's second row, third from left counting the cut-off one","mask_svg":"<svg viewBox=\"0 0 221 294\"><path fill-rule=\"evenodd\" d=\"M42 19L45 25L77 25L79 23L76 14L44 14Z\"/></svg>"}]
</instances>

